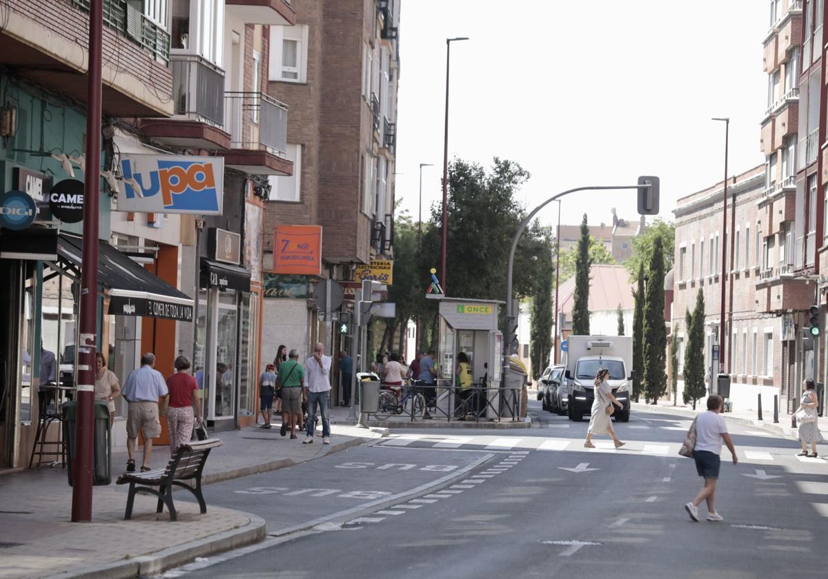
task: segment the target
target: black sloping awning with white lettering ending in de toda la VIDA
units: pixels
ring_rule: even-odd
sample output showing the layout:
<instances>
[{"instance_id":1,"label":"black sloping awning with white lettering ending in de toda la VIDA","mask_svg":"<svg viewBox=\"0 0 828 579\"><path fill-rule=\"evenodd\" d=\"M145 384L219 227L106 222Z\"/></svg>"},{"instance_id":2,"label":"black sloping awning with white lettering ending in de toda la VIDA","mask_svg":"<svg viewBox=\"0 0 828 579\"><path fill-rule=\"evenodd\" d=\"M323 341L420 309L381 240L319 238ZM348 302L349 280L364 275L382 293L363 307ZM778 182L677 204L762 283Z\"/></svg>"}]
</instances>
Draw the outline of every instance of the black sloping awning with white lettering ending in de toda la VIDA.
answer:
<instances>
[{"instance_id":1,"label":"black sloping awning with white lettering ending in de toda la VIDA","mask_svg":"<svg viewBox=\"0 0 828 579\"><path fill-rule=\"evenodd\" d=\"M79 268L83 240L60 234L57 251L61 261ZM98 283L109 290L112 315L193 321L192 299L103 241L98 246Z\"/></svg>"}]
</instances>

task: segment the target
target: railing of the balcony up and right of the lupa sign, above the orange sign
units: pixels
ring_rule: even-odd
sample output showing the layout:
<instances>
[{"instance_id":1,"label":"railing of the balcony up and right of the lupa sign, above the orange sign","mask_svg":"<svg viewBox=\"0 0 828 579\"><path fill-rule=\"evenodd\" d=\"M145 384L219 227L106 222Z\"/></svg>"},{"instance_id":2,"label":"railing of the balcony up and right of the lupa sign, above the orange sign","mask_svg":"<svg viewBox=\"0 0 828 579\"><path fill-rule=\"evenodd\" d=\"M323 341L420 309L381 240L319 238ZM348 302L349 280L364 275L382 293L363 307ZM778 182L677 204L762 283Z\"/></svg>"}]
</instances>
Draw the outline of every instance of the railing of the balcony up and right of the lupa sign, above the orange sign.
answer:
<instances>
[{"instance_id":1,"label":"railing of the balcony up and right of the lupa sign, above the orange sign","mask_svg":"<svg viewBox=\"0 0 828 579\"><path fill-rule=\"evenodd\" d=\"M233 149L287 154L287 105L262 93L224 93Z\"/></svg>"}]
</instances>

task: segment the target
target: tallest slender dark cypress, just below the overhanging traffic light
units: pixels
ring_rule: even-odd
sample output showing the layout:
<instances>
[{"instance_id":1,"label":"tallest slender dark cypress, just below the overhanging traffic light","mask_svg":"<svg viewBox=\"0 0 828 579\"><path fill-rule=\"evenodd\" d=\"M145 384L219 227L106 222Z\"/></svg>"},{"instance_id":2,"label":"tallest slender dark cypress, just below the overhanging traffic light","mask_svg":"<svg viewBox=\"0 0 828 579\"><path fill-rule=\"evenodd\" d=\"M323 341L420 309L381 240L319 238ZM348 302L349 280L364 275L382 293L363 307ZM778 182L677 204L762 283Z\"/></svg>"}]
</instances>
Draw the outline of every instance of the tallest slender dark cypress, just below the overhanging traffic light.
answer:
<instances>
[{"instance_id":1,"label":"tallest slender dark cypress, just below the overhanging traffic light","mask_svg":"<svg viewBox=\"0 0 828 579\"><path fill-rule=\"evenodd\" d=\"M647 400L657 404L667 392L667 328L664 325L664 251L656 237L644 303L644 386Z\"/></svg>"}]
</instances>

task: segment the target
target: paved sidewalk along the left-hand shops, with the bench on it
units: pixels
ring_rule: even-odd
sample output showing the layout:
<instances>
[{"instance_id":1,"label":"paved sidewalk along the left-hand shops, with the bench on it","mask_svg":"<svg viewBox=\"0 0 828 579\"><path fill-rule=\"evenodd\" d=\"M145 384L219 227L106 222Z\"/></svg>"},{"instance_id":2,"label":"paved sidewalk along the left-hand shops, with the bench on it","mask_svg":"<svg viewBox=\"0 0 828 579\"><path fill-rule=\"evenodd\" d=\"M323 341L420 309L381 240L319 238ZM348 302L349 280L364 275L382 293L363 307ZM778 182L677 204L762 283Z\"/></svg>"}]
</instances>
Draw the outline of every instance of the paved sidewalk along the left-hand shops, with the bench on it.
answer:
<instances>
[{"instance_id":1,"label":"paved sidewalk along the left-hand shops, with the bench on it","mask_svg":"<svg viewBox=\"0 0 828 579\"><path fill-rule=\"evenodd\" d=\"M330 446L279 435L278 424L219 432L224 445L210 453L205 484L323 457L381 438L386 431L348 426L331 427ZM137 462L141 461L141 449ZM61 467L15 471L0 476L0 577L138 577L256 543L265 537L265 523L254 514L176 500L178 520L156 514L156 499L137 495L132 520L123 520L126 486L115 479L126 465L126 452L113 453L109 486L93 491L93 522L70 523L72 489ZM169 460L169 448L154 447L152 467ZM186 492L186 491L185 491ZM176 495L177 498L177 495ZM252 505L253 506L253 505Z\"/></svg>"}]
</instances>

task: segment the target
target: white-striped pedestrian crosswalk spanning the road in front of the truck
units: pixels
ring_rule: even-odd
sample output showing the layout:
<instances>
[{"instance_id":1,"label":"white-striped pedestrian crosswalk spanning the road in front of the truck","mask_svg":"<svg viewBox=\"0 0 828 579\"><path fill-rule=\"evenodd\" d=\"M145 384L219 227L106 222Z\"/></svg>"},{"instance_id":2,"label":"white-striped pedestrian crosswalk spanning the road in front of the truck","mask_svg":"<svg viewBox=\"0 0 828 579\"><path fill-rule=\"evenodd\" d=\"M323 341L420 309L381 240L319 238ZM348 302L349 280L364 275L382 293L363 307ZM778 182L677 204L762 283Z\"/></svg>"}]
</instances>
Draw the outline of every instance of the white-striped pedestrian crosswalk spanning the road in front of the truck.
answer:
<instances>
[{"instance_id":1,"label":"white-striped pedestrian crosswalk spanning the road in front of the truck","mask_svg":"<svg viewBox=\"0 0 828 579\"><path fill-rule=\"evenodd\" d=\"M622 448L615 448L612 441L595 440L595 448L585 448L578 438L560 438L544 436L498 437L491 435L450 436L440 434L392 434L376 444L381 447L440 448L466 451L487 452L589 452L647 455L652 457L671 457L678 454L681 443L661 443L654 441L628 441ZM772 462L792 461L806 464L826 465L822 458L796 457L791 448L757 448L738 447L739 462L768 464Z\"/></svg>"}]
</instances>

